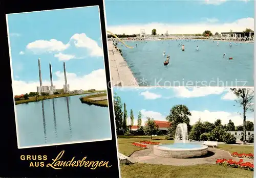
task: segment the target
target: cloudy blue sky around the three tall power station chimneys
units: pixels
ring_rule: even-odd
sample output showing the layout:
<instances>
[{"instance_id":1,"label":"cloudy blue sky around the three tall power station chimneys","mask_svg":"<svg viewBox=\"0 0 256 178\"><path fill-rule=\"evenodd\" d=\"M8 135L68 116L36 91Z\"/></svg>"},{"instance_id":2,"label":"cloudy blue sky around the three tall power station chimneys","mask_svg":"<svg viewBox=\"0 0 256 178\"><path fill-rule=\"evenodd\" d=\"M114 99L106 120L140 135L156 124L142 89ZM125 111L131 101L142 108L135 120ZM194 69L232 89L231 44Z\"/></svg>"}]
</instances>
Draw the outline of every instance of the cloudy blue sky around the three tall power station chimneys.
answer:
<instances>
[{"instance_id":1,"label":"cloudy blue sky around the three tall power station chimneys","mask_svg":"<svg viewBox=\"0 0 256 178\"><path fill-rule=\"evenodd\" d=\"M105 89L106 79L98 6L9 14L14 94L36 91L38 58L43 85L63 88L66 62L70 89Z\"/></svg>"}]
</instances>

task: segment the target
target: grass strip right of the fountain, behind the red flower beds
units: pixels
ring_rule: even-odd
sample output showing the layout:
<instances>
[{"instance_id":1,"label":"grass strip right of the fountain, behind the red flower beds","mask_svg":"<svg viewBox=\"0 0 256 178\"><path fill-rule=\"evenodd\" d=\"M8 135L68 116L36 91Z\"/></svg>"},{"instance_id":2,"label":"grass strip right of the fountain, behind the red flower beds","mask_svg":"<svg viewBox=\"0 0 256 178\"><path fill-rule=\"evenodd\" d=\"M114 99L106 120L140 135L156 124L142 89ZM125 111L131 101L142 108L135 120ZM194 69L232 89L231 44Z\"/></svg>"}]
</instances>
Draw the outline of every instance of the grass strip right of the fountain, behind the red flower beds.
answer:
<instances>
[{"instance_id":1,"label":"grass strip right of the fountain, behind the red flower beds","mask_svg":"<svg viewBox=\"0 0 256 178\"><path fill-rule=\"evenodd\" d=\"M217 148L226 150L226 151L230 152L230 154L232 154L233 152L244 153L244 154L249 154L249 153L253 154L253 150L254 150L254 146L249 146L249 145L220 144L220 145L218 145Z\"/></svg>"}]
</instances>

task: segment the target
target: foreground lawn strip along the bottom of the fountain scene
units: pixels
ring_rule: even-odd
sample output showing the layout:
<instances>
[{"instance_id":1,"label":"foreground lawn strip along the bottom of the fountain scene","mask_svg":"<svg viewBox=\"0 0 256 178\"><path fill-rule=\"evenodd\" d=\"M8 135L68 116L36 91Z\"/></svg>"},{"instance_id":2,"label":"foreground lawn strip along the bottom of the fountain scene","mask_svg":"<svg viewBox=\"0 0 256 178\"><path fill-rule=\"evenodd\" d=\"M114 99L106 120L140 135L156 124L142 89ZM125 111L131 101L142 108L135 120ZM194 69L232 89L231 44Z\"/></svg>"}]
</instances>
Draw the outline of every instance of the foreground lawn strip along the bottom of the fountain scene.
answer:
<instances>
[{"instance_id":1,"label":"foreground lawn strip along the bottom of the fountain scene","mask_svg":"<svg viewBox=\"0 0 256 178\"><path fill-rule=\"evenodd\" d=\"M168 166L135 163L121 165L120 168L122 178L253 177L253 171L214 164Z\"/></svg>"}]
</instances>

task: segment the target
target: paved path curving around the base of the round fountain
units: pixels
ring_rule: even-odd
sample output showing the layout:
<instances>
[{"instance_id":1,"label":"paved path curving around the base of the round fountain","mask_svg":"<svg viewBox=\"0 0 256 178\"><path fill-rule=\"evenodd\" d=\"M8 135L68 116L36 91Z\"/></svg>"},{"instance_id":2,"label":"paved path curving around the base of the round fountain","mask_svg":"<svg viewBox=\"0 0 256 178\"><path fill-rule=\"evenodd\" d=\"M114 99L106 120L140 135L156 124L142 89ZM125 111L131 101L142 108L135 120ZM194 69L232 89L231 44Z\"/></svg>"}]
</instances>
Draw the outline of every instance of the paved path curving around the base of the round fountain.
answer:
<instances>
[{"instance_id":1,"label":"paved path curving around the base of the round fountain","mask_svg":"<svg viewBox=\"0 0 256 178\"><path fill-rule=\"evenodd\" d=\"M217 159L232 159L239 161L240 158L232 157L229 152L208 147L208 154L202 158L188 158L188 159L176 159L176 158L163 158L153 154L153 145L147 145L147 149L135 151L130 156L130 161L133 163L147 163L147 164L163 164L173 166L188 166L197 164L215 164ZM250 159L243 159L245 162L253 162Z\"/></svg>"}]
</instances>

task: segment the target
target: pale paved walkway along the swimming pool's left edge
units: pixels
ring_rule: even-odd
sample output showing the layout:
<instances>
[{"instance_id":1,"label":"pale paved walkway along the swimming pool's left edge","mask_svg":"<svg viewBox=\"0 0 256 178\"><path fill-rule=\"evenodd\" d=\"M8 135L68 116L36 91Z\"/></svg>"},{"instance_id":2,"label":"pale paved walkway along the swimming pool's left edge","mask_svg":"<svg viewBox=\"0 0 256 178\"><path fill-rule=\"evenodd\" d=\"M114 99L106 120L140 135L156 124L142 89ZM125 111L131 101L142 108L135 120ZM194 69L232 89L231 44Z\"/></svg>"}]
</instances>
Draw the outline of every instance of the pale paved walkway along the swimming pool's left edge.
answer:
<instances>
[{"instance_id":1,"label":"pale paved walkway along the swimming pool's left edge","mask_svg":"<svg viewBox=\"0 0 256 178\"><path fill-rule=\"evenodd\" d=\"M112 86L139 86L127 63L120 53L115 50L112 41L108 41L108 47Z\"/></svg>"}]
</instances>

